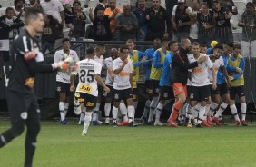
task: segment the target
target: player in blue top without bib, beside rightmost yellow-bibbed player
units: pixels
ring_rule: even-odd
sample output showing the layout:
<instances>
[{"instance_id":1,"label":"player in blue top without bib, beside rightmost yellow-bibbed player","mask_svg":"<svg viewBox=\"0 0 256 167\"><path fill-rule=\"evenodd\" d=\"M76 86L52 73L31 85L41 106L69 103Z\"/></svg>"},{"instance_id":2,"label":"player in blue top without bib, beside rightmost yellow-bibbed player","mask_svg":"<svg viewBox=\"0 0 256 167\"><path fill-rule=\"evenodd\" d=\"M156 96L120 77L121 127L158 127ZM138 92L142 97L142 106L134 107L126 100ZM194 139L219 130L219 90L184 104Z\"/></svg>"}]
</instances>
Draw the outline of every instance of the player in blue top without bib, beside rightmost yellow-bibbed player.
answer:
<instances>
[{"instance_id":1,"label":"player in blue top without bib, beside rightmost yellow-bibbed player","mask_svg":"<svg viewBox=\"0 0 256 167\"><path fill-rule=\"evenodd\" d=\"M228 64L228 60L229 60L230 54L232 52L232 47L233 47L233 44L225 44L224 47L223 47L222 59L223 59L223 62L224 62L224 66L226 67L226 69L229 73L230 72L242 73L243 71L241 70L241 68L231 67ZM216 93L221 94L223 102L220 105L220 108L217 111L217 113L212 117L212 121L215 122L218 126L221 126L222 124L219 122L218 118L219 118L219 116L222 115L223 111L227 108L228 104L230 103L230 91L229 91L229 87L226 83L225 75L222 73L222 71L220 69L219 69L218 74L217 74ZM240 119L238 117L237 109L236 109L235 105L231 105L231 113L235 118L234 125L239 125L240 124Z\"/></svg>"}]
</instances>

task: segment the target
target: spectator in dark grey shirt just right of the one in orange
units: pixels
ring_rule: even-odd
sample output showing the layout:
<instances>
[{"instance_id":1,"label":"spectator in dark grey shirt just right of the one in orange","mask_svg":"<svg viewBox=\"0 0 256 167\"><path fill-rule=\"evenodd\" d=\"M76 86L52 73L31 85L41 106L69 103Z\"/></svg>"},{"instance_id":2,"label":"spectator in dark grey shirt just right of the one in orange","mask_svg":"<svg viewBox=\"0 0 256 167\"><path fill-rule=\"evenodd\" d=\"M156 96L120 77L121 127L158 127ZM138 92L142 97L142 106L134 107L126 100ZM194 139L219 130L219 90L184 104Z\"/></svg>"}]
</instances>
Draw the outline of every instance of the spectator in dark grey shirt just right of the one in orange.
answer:
<instances>
[{"instance_id":1,"label":"spectator in dark grey shirt just right of the one in orange","mask_svg":"<svg viewBox=\"0 0 256 167\"><path fill-rule=\"evenodd\" d=\"M116 16L115 29L120 30L120 41L136 39L138 20L131 11L131 5L123 5L123 13Z\"/></svg>"}]
</instances>

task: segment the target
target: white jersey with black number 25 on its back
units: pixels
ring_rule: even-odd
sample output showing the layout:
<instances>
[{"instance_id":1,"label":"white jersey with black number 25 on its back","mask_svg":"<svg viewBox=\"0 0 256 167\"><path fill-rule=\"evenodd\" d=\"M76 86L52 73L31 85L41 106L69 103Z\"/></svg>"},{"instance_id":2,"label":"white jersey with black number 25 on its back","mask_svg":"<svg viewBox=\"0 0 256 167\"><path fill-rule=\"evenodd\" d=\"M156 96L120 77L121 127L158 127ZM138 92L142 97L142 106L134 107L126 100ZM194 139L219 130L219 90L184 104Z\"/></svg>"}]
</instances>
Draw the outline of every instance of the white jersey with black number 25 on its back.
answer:
<instances>
[{"instance_id":1,"label":"white jersey with black number 25 on its back","mask_svg":"<svg viewBox=\"0 0 256 167\"><path fill-rule=\"evenodd\" d=\"M84 59L79 61L77 65L79 83L76 87L76 92L98 96L98 85L94 74L101 74L102 65L93 59Z\"/></svg>"}]
</instances>

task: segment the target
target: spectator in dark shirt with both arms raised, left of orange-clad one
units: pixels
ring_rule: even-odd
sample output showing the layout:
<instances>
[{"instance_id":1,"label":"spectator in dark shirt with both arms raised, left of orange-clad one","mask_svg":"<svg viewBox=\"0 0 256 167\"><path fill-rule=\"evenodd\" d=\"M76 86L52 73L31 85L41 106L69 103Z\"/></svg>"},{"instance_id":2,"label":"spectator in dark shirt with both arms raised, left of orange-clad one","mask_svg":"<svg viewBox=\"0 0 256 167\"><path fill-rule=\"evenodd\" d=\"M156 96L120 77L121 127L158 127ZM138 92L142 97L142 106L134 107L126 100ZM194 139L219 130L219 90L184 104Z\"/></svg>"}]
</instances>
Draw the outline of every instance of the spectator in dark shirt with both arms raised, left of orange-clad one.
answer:
<instances>
[{"instance_id":1,"label":"spectator in dark shirt with both arms raised, left of orange-clad one","mask_svg":"<svg viewBox=\"0 0 256 167\"><path fill-rule=\"evenodd\" d=\"M115 9L113 15L104 15L104 10L97 10L97 15L94 17L93 9L90 9L90 19L93 22L94 40L95 41L110 41L112 33L110 30L110 21L118 14L118 9Z\"/></svg>"}]
</instances>

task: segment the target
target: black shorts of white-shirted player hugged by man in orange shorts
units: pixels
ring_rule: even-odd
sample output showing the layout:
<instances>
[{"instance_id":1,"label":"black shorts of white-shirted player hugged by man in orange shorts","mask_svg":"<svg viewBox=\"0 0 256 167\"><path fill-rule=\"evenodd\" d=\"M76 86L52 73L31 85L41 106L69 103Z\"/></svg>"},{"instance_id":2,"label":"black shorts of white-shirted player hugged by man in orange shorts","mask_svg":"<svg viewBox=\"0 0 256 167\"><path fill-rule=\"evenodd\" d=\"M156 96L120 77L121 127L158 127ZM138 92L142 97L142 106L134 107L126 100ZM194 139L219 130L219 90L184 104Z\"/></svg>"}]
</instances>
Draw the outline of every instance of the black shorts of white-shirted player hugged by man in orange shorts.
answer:
<instances>
[{"instance_id":1,"label":"black shorts of white-shirted player hugged by man in orange shorts","mask_svg":"<svg viewBox=\"0 0 256 167\"><path fill-rule=\"evenodd\" d=\"M191 101L197 101L197 102L202 102L202 101L208 101L209 96L210 96L210 90L209 86L191 86L190 88L191 94L190 94L190 100Z\"/></svg>"}]
</instances>

